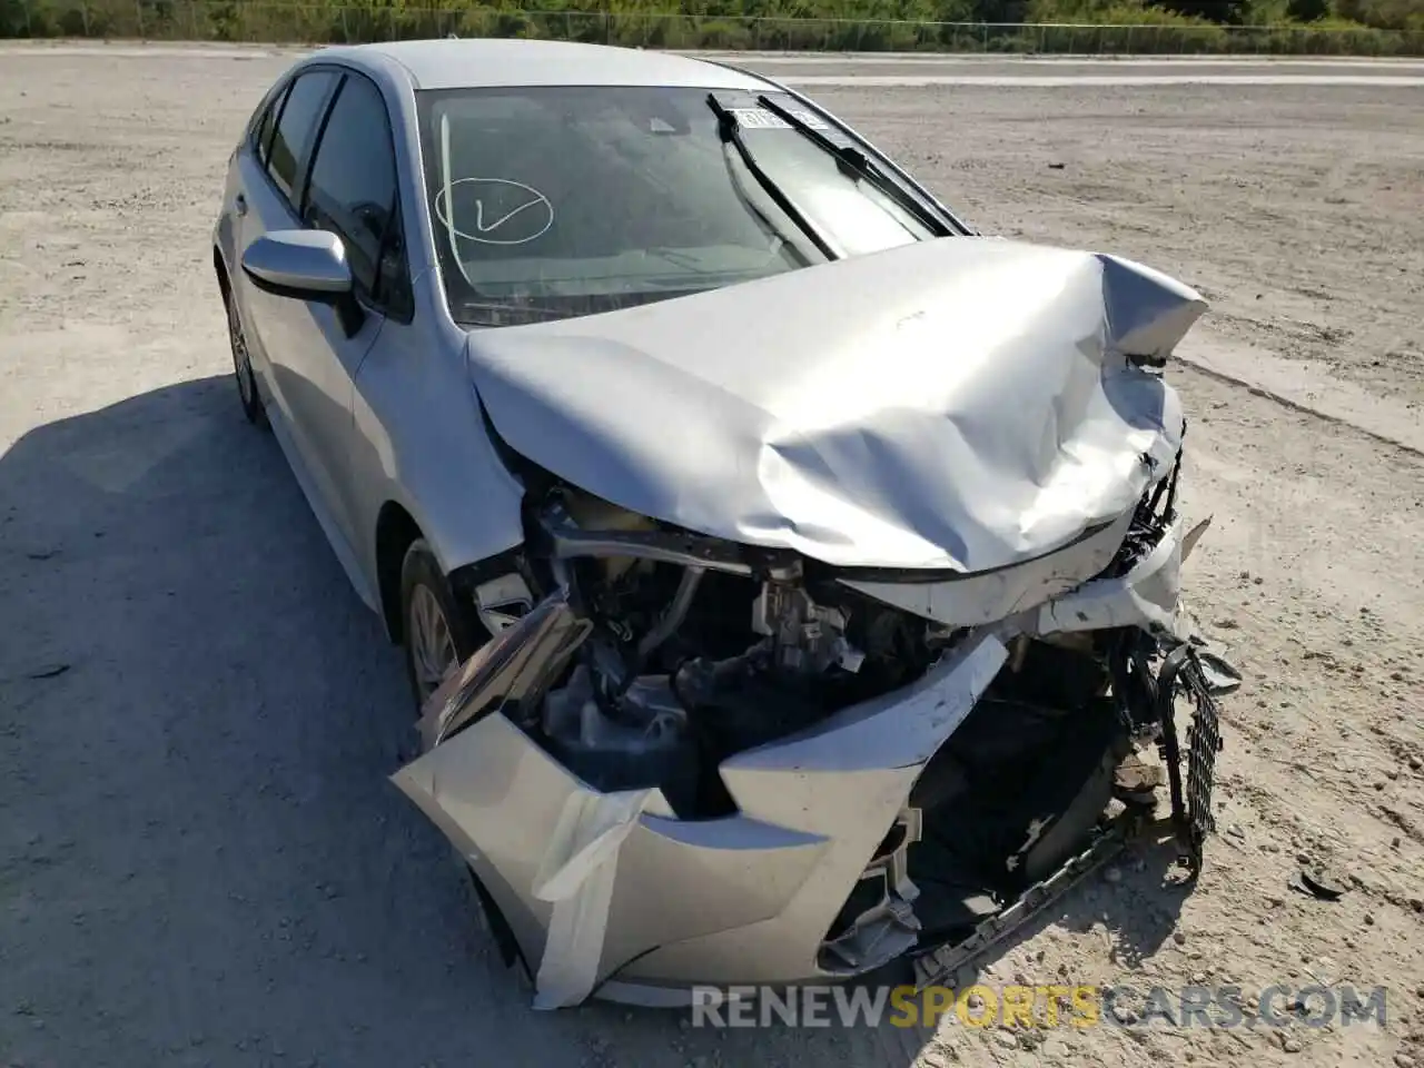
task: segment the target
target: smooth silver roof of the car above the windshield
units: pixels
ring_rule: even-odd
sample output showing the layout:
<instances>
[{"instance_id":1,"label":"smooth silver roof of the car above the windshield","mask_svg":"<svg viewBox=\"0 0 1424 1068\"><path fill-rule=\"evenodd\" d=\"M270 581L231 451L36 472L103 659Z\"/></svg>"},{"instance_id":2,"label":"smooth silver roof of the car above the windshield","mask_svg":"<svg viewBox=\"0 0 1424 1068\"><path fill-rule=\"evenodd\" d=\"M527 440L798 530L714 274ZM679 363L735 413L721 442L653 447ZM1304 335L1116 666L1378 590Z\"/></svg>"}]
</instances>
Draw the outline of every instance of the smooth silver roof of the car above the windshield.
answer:
<instances>
[{"instance_id":1,"label":"smooth silver roof of the car above the windshield","mask_svg":"<svg viewBox=\"0 0 1424 1068\"><path fill-rule=\"evenodd\" d=\"M577 41L441 38L323 48L313 60L400 64L417 90L518 85L648 85L762 90L769 83L715 63L665 51Z\"/></svg>"}]
</instances>

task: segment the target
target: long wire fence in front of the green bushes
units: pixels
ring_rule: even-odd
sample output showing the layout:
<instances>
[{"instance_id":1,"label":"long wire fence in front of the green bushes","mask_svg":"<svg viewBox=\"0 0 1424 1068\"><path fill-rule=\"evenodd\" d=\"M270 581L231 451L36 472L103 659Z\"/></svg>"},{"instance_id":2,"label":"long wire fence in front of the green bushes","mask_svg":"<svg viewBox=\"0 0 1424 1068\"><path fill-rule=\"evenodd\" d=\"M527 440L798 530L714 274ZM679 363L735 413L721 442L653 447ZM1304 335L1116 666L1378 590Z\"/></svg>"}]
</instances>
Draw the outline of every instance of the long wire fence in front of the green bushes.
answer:
<instances>
[{"instance_id":1,"label":"long wire fence in front of the green bushes","mask_svg":"<svg viewBox=\"0 0 1424 1068\"><path fill-rule=\"evenodd\" d=\"M326 44L449 34L778 51L1424 54L1424 31L1330 26L936 23L289 0L0 0L0 37Z\"/></svg>"}]
</instances>

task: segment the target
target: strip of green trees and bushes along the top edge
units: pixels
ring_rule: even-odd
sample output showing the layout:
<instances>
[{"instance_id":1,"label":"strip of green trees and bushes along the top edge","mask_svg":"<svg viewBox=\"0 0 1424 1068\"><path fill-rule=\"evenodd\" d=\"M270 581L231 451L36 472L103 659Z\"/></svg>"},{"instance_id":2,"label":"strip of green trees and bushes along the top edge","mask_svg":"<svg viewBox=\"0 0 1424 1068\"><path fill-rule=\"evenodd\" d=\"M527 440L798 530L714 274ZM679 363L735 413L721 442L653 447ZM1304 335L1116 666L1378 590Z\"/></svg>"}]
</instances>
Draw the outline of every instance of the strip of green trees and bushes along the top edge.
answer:
<instances>
[{"instance_id":1,"label":"strip of green trees and bushes along the top edge","mask_svg":"<svg viewBox=\"0 0 1424 1068\"><path fill-rule=\"evenodd\" d=\"M1424 54L1424 0L0 0L0 37Z\"/></svg>"}]
</instances>

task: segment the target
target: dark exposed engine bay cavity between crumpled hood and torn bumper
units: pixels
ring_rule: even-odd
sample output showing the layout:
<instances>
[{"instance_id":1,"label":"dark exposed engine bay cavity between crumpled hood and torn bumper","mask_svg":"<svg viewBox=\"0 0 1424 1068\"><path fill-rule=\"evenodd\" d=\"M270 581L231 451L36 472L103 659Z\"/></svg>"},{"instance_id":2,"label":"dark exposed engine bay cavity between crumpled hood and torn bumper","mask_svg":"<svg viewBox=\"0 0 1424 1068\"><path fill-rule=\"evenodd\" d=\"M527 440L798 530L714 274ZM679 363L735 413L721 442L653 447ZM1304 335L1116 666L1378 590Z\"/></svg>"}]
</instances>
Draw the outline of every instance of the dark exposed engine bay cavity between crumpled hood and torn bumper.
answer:
<instances>
[{"instance_id":1,"label":"dark exposed engine bay cavity between crumpled hood and torn bumper","mask_svg":"<svg viewBox=\"0 0 1424 1068\"><path fill-rule=\"evenodd\" d=\"M639 523L607 508L568 493L550 518ZM558 581L591 629L525 726L590 785L655 785L681 819L736 810L716 775L728 756L906 685L951 638L796 561L572 558Z\"/></svg>"}]
</instances>

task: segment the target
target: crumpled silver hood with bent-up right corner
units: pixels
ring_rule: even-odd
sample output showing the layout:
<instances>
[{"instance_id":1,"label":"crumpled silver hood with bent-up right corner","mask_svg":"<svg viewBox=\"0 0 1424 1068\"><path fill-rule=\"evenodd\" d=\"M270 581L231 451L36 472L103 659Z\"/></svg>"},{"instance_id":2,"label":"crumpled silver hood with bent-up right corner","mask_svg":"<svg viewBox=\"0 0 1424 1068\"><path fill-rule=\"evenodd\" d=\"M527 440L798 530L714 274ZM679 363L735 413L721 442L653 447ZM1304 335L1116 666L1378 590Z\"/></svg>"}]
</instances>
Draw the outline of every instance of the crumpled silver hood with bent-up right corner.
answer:
<instances>
[{"instance_id":1,"label":"crumpled silver hood with bent-up right corner","mask_svg":"<svg viewBox=\"0 0 1424 1068\"><path fill-rule=\"evenodd\" d=\"M1121 515L1180 447L1206 305L1129 261L941 238L605 315L476 330L518 453L624 508L843 567L985 571Z\"/></svg>"}]
</instances>

